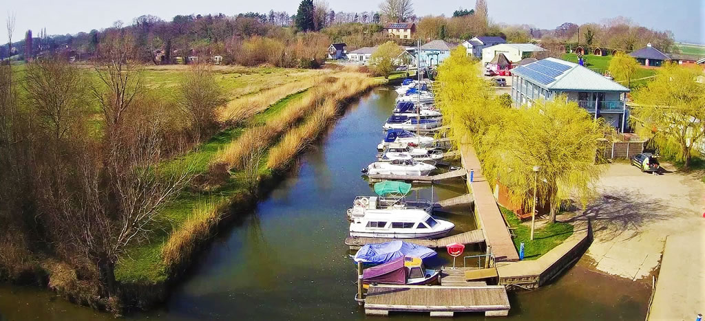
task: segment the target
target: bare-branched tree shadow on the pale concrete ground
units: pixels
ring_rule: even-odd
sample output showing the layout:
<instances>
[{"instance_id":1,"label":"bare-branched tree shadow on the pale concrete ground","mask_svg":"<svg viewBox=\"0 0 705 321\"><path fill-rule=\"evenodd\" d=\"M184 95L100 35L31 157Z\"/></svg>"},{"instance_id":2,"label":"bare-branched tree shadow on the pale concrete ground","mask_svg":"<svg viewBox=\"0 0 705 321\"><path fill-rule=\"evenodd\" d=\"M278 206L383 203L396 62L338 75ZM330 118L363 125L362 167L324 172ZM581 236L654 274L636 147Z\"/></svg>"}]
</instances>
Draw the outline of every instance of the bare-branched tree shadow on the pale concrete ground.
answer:
<instances>
[{"instance_id":1,"label":"bare-branched tree shadow on the pale concrete ground","mask_svg":"<svg viewBox=\"0 0 705 321\"><path fill-rule=\"evenodd\" d=\"M630 232L627 239L636 237L639 229L650 222L668 220L672 210L668 210L664 200L649 199L638 191L615 191L603 194L599 199L564 222L577 222L590 219L594 232L600 237L613 239L625 232Z\"/></svg>"}]
</instances>

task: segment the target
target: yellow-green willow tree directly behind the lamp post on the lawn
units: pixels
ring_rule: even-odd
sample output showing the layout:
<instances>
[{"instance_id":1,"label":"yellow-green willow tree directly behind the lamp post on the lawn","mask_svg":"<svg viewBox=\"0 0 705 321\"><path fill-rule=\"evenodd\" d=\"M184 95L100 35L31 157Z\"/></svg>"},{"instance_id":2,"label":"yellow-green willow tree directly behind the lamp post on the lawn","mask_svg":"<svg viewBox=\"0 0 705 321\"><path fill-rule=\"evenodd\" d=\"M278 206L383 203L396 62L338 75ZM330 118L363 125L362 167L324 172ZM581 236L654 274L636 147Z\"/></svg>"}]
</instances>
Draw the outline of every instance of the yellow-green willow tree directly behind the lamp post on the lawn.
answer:
<instances>
[{"instance_id":1,"label":"yellow-green willow tree directly behind the lamp post on the lawn","mask_svg":"<svg viewBox=\"0 0 705 321\"><path fill-rule=\"evenodd\" d=\"M496 134L494 149L484 158L486 167L509 189L514 203L532 210L537 177L539 204L551 209L551 222L563 199L577 196L583 205L596 195L594 183L598 139L604 125L565 97L539 101L532 107L510 111ZM534 166L539 167L537 173Z\"/></svg>"}]
</instances>

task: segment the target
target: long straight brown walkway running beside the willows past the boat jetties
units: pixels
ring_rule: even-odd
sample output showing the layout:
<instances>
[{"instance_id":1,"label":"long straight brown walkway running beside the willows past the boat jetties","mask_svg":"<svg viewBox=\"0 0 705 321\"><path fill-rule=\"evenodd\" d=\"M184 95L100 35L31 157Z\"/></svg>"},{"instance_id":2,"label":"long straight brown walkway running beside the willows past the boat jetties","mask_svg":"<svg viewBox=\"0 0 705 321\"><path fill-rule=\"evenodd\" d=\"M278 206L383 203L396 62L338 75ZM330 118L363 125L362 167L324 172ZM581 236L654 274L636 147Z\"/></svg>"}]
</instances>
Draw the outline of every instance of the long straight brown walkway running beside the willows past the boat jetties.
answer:
<instances>
[{"instance_id":1,"label":"long straight brown walkway running beside the willows past the boat jetties","mask_svg":"<svg viewBox=\"0 0 705 321\"><path fill-rule=\"evenodd\" d=\"M470 144L460 146L462 164L468 171L474 171L474 180L467 184L474 197L474 209L479 221L479 227L484 231L487 246L491 248L497 261L517 261L519 254L514 247L512 236L499 211L489 182L482 175L480 161Z\"/></svg>"}]
</instances>

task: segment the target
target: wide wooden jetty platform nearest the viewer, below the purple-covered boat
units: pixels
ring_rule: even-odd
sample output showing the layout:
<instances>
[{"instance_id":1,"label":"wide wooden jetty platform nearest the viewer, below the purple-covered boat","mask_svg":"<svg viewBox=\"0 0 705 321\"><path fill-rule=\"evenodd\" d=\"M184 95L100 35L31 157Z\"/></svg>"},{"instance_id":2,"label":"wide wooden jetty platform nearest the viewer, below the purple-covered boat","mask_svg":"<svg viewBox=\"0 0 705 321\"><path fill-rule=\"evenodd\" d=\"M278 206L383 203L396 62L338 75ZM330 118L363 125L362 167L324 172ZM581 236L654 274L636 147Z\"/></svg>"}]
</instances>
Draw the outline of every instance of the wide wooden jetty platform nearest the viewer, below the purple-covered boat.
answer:
<instances>
[{"instance_id":1,"label":"wide wooden jetty platform nearest the viewer, below the purple-covered boat","mask_svg":"<svg viewBox=\"0 0 705 321\"><path fill-rule=\"evenodd\" d=\"M430 312L431 317L452 317L456 312L484 312L486 316L508 315L507 290L503 286L443 287L377 285L364 299L367 315L389 315L389 311Z\"/></svg>"}]
</instances>

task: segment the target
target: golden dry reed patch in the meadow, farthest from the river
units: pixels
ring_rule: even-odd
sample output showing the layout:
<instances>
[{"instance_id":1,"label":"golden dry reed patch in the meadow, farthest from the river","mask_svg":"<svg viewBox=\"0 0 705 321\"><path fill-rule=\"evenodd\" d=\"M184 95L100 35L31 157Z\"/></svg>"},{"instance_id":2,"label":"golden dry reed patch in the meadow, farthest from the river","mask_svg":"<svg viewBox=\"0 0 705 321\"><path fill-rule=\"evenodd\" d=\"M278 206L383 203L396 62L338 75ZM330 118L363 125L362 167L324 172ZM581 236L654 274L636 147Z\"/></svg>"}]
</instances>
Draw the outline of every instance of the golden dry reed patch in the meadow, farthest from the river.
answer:
<instances>
[{"instance_id":1,"label":"golden dry reed patch in the meadow, farthest from the river","mask_svg":"<svg viewBox=\"0 0 705 321\"><path fill-rule=\"evenodd\" d=\"M257 113L269 108L277 101L286 98L286 96L302 92L314 86L316 78L310 77L297 82L290 82L279 87L264 90L258 94L245 96L239 99L229 101L228 104L219 113L221 122L242 122L247 120Z\"/></svg>"}]
</instances>

